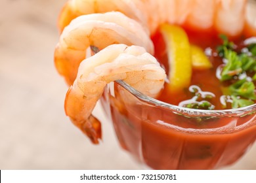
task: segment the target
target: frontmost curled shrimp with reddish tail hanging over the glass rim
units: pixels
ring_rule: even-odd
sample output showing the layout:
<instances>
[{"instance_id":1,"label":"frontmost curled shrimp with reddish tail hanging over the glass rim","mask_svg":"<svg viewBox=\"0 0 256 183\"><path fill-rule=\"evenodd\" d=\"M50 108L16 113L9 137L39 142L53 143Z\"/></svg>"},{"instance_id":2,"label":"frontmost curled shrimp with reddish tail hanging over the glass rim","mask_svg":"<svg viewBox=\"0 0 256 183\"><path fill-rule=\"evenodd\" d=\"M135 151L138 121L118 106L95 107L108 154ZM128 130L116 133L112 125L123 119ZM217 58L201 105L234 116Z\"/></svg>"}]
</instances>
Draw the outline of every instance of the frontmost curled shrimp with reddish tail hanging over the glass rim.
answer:
<instances>
[{"instance_id":1,"label":"frontmost curled shrimp with reddish tail hanging over the glass rim","mask_svg":"<svg viewBox=\"0 0 256 183\"><path fill-rule=\"evenodd\" d=\"M112 44L83 60L65 99L66 115L91 141L101 139L100 122L91 114L106 84L123 80L139 92L156 97L166 78L160 63L140 46Z\"/></svg>"}]
</instances>

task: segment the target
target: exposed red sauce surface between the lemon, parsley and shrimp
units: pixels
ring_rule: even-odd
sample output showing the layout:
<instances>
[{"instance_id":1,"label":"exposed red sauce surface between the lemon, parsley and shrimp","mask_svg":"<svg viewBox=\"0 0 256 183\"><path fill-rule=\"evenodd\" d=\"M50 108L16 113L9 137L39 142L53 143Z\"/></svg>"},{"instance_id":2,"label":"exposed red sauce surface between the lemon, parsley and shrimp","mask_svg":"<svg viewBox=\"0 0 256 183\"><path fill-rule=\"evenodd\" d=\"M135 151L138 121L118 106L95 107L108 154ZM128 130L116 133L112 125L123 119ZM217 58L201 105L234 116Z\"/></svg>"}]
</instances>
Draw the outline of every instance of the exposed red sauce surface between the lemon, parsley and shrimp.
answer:
<instances>
[{"instance_id":1,"label":"exposed red sauce surface between the lemon, parsley and shrimp","mask_svg":"<svg viewBox=\"0 0 256 183\"><path fill-rule=\"evenodd\" d=\"M213 67L211 69L193 69L192 70L192 78L190 81L190 86L196 85L203 92L211 92L215 95L212 99L208 101L215 106L215 110L227 109L231 108L231 106L223 107L221 103L221 96L224 95L223 88L227 85L232 84L230 82L221 82L219 78L216 76L217 68L219 65L223 64L223 58L218 55L217 46L223 44L222 40L219 38L216 33L211 32L196 32L190 31L188 29L185 30L190 44L194 44L199 46L205 51L205 54L211 61ZM243 46L244 37L239 37L232 42L238 46L237 50L240 52L240 48ZM166 73L169 71L167 53L165 48L165 42L160 32L157 32L153 37L152 41L155 45L155 57L158 61L163 65L166 70ZM186 101L192 99L194 97L194 93L189 91L189 88L184 88L182 93L169 93L167 90L167 82L165 82L165 87L163 92L160 94L158 99L160 101L164 101L165 103L170 103L173 105L179 105L181 101Z\"/></svg>"}]
</instances>

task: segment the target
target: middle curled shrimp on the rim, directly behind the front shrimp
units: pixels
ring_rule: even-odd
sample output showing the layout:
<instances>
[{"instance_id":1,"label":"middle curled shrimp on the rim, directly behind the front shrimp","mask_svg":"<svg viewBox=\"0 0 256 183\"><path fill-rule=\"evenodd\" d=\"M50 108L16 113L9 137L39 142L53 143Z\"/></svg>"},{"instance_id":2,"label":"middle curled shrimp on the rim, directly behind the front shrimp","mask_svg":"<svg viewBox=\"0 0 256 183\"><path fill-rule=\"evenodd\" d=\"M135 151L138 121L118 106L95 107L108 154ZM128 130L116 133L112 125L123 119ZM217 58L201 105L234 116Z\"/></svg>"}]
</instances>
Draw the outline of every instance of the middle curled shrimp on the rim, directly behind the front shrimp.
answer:
<instances>
[{"instance_id":1,"label":"middle curled shrimp on the rim, directly behind the front shrimp","mask_svg":"<svg viewBox=\"0 0 256 183\"><path fill-rule=\"evenodd\" d=\"M142 26L121 12L88 14L75 18L68 25L54 52L58 73L71 85L77 75L79 63L87 57L89 46L100 50L110 44L123 43L143 46L154 54L153 43Z\"/></svg>"}]
</instances>

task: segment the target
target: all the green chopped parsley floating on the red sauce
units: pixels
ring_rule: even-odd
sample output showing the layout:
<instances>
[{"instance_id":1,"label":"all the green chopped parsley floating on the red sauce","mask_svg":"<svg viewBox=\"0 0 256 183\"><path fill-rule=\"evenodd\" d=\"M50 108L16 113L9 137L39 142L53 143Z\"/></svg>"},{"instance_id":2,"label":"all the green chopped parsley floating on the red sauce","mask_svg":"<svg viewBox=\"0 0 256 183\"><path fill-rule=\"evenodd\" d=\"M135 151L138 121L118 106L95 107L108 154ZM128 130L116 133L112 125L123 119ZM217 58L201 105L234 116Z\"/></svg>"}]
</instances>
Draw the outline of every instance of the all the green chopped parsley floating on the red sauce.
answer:
<instances>
[{"instance_id":1,"label":"all the green chopped parsley floating on the red sauce","mask_svg":"<svg viewBox=\"0 0 256 183\"><path fill-rule=\"evenodd\" d=\"M223 59L220 77L222 83L223 96L221 103L223 108L240 108L253 105L256 101L256 43L247 44L244 48L239 48L228 40L226 35L219 36L223 44L217 46L217 53ZM211 104L214 94L202 92L198 86L190 86L189 91L194 94L192 99L182 101L179 106L187 108L197 108L212 110L215 108Z\"/></svg>"}]
</instances>

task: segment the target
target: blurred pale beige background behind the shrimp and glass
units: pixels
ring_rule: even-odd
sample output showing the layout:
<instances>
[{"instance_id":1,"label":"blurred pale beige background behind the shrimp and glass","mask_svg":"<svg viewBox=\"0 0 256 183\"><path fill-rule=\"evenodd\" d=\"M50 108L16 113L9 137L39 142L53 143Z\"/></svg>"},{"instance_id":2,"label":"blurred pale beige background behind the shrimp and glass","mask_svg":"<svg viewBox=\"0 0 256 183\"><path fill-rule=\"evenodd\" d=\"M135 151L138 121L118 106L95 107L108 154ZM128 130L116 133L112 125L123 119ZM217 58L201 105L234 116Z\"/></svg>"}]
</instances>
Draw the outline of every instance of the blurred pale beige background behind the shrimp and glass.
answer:
<instances>
[{"instance_id":1,"label":"blurred pale beige background behind the shrimp and glass","mask_svg":"<svg viewBox=\"0 0 256 183\"><path fill-rule=\"evenodd\" d=\"M66 0L0 1L0 169L142 169L121 150L97 105L95 146L64 113L68 86L56 73L56 21ZM256 169L256 146L226 169Z\"/></svg>"}]
</instances>

